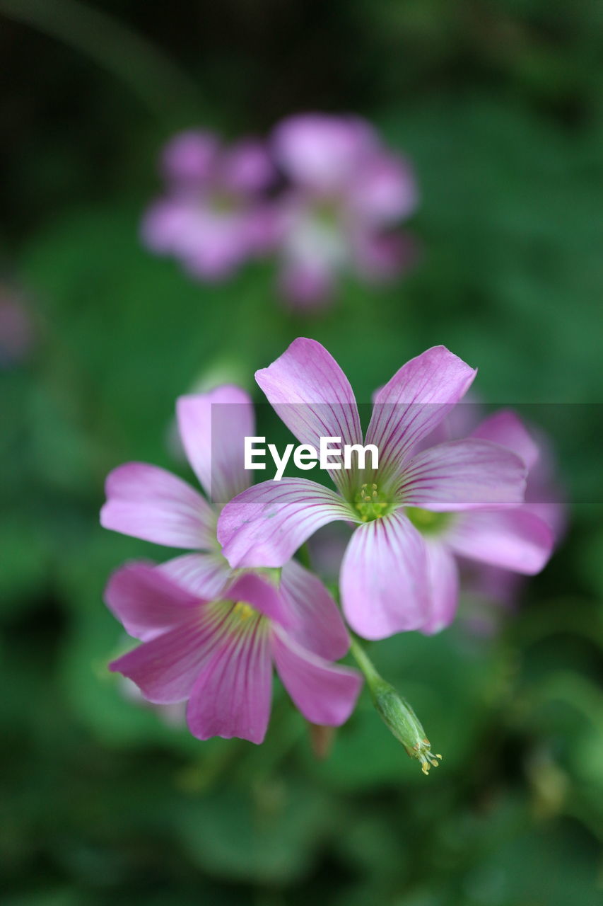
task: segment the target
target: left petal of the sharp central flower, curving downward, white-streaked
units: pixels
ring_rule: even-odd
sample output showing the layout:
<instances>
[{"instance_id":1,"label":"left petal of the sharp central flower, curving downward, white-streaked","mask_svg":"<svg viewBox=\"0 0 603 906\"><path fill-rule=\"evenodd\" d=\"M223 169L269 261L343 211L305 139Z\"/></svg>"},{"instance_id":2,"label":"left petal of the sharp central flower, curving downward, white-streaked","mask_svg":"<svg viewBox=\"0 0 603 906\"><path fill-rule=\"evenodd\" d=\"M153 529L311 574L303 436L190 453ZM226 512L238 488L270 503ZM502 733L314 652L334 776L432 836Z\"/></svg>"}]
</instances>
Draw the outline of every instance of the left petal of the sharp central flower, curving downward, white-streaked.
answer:
<instances>
[{"instance_id":1,"label":"left petal of the sharp central flower, curving downward, white-streaked","mask_svg":"<svg viewBox=\"0 0 603 906\"><path fill-rule=\"evenodd\" d=\"M330 488L282 478L254 485L226 504L217 534L233 567L282 566L321 525L355 517Z\"/></svg>"}]
</instances>

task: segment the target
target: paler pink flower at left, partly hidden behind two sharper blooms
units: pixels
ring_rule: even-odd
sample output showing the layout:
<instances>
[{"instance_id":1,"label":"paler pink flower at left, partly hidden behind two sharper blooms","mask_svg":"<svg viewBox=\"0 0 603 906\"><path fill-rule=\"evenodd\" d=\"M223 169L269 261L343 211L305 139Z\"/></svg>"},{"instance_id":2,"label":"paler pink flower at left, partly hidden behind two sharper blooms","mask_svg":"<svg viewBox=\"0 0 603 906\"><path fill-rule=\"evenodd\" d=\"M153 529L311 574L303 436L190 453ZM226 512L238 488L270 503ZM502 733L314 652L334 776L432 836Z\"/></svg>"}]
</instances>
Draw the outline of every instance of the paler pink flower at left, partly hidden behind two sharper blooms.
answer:
<instances>
[{"instance_id":1,"label":"paler pink flower at left, partly hidden behind two sharper blooms","mask_svg":"<svg viewBox=\"0 0 603 906\"><path fill-rule=\"evenodd\" d=\"M187 593L214 601L234 579L215 529L221 507L249 485L244 437L255 431L254 406L244 390L225 385L180 397L177 423L208 499L166 469L129 462L107 478L101 525L156 545L185 548L189 553L157 566L156 573ZM278 593L283 608L304 615L290 627L292 637L321 657L343 657L349 636L336 603L317 576L296 561L283 563Z\"/></svg>"}]
</instances>

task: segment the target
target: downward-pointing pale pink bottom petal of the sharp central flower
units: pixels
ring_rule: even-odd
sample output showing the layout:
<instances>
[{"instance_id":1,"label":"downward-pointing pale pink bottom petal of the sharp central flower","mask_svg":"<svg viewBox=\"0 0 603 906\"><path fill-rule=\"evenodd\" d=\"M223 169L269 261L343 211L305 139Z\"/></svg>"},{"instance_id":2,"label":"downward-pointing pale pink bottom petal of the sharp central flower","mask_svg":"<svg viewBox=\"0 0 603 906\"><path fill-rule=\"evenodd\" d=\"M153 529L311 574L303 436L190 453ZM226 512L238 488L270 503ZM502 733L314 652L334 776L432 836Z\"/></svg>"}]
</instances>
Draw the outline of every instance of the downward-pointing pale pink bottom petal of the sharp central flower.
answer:
<instances>
[{"instance_id":1,"label":"downward-pointing pale pink bottom petal of the sharp central flower","mask_svg":"<svg viewBox=\"0 0 603 906\"><path fill-rule=\"evenodd\" d=\"M399 510L354 531L341 564L341 601L365 639L420 629L429 614L425 542Z\"/></svg>"}]
</instances>

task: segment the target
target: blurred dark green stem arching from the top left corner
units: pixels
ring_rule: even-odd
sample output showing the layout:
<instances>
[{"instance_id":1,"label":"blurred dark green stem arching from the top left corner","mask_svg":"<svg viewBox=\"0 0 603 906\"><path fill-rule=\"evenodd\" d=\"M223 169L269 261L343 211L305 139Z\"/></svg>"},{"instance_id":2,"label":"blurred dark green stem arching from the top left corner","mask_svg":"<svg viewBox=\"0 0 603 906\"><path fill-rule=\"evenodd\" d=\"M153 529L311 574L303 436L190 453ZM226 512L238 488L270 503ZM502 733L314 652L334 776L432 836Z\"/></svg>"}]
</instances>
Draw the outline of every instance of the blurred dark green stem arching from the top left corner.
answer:
<instances>
[{"instance_id":1,"label":"blurred dark green stem arching from the top left corner","mask_svg":"<svg viewBox=\"0 0 603 906\"><path fill-rule=\"evenodd\" d=\"M152 43L99 9L76 0L0 0L0 12L91 57L153 113L198 109L195 83Z\"/></svg>"}]
</instances>

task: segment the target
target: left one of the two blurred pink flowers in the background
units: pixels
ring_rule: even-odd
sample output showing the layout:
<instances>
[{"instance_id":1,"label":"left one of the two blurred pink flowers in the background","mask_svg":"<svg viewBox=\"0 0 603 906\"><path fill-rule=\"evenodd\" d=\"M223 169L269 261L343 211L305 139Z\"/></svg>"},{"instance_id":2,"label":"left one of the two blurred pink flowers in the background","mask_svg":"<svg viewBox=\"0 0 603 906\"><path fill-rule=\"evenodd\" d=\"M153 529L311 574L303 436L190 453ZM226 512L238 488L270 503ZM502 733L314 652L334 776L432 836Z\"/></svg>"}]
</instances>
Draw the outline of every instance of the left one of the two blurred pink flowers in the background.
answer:
<instances>
[{"instance_id":1,"label":"left one of the two blurred pink flowers in the background","mask_svg":"<svg viewBox=\"0 0 603 906\"><path fill-rule=\"evenodd\" d=\"M210 132L182 132L164 149L162 172L166 194L142 222L151 251L174 255L199 279L220 280L273 244L273 207L263 196L273 166L260 141L224 148Z\"/></svg>"}]
</instances>

